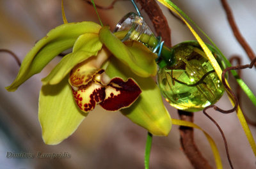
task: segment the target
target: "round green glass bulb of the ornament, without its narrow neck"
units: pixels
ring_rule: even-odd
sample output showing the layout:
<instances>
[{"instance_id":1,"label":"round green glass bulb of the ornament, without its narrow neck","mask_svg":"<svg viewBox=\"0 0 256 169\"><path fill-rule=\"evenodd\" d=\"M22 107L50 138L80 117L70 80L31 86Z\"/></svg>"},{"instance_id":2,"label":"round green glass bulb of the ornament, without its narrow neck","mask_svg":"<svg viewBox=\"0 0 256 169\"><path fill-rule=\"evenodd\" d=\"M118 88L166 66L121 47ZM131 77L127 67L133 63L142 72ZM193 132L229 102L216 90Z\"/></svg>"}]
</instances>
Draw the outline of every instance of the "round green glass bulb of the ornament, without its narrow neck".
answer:
<instances>
[{"instance_id":1,"label":"round green glass bulb of the ornament, without its narrow neck","mask_svg":"<svg viewBox=\"0 0 256 169\"><path fill-rule=\"evenodd\" d=\"M222 70L225 64L213 47L207 45ZM198 112L213 105L225 91L197 41L185 41L172 48L173 64L159 68L157 80L166 101L175 108Z\"/></svg>"}]
</instances>

